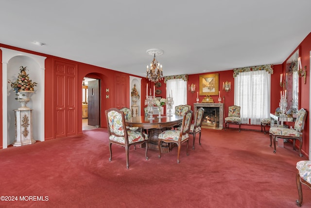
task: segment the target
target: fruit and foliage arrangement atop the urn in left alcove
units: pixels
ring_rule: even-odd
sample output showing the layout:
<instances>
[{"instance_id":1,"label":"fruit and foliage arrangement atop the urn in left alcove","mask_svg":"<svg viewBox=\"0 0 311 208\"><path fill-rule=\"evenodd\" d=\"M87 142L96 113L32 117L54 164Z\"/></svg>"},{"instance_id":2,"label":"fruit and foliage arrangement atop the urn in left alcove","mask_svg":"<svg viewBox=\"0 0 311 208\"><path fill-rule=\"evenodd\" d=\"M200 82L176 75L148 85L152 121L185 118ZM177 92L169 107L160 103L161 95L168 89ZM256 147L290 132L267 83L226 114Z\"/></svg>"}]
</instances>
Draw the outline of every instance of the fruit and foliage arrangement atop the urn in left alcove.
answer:
<instances>
[{"instance_id":1,"label":"fruit and foliage arrangement atop the urn in left alcove","mask_svg":"<svg viewBox=\"0 0 311 208\"><path fill-rule=\"evenodd\" d=\"M20 91L34 91L34 87L37 86L36 82L33 82L29 75L26 73L27 66L20 66L19 71L20 74L17 76L17 80L15 82L8 80L8 83L11 84L13 91L18 93Z\"/></svg>"}]
</instances>

